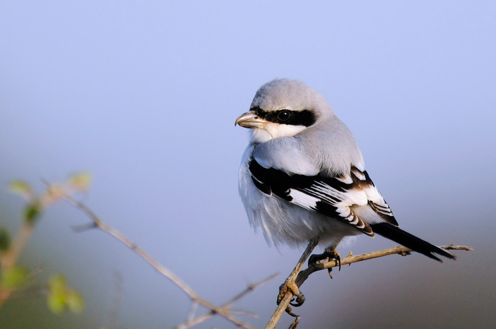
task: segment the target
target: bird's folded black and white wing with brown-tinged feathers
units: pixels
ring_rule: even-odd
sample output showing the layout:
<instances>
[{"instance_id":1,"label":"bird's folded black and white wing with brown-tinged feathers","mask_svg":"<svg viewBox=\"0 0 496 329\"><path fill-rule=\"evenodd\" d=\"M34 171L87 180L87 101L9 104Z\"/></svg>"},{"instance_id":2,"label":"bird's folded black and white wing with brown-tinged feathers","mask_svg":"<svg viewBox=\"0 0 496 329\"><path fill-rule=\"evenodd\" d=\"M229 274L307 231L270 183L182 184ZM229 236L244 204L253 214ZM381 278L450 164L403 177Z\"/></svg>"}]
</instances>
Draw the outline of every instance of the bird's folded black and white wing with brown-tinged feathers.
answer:
<instances>
[{"instance_id":1,"label":"bird's folded black and white wing with brown-tinged feathers","mask_svg":"<svg viewBox=\"0 0 496 329\"><path fill-rule=\"evenodd\" d=\"M355 166L351 166L350 173L333 177L289 175L276 168L265 168L251 158L249 170L253 183L263 193L348 223L370 236L374 236L371 226L354 213L354 206L370 205L381 219L398 226L367 171Z\"/></svg>"}]
</instances>

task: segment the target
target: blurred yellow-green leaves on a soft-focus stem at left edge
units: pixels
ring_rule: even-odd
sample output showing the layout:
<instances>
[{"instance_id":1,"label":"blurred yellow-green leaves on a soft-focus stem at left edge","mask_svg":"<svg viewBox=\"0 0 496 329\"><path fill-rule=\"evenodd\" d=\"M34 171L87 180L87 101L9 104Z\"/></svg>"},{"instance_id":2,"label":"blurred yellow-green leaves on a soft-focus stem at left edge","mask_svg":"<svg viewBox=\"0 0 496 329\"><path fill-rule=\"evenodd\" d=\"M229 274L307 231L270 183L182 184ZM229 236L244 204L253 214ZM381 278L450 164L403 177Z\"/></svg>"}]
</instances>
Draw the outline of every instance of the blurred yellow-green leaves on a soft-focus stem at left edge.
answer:
<instances>
[{"instance_id":1,"label":"blurred yellow-green leaves on a soft-focus stem at left edge","mask_svg":"<svg viewBox=\"0 0 496 329\"><path fill-rule=\"evenodd\" d=\"M22 212L22 225L14 238L0 227L0 307L12 293L26 286L36 272L17 265L17 261L43 211L64 197L88 190L90 183L89 173L74 173L62 183L45 182L46 188L39 195L25 181L13 180L9 183L10 193L20 195L27 204ZM65 276L53 274L48 282L47 305L54 314L66 310L80 313L84 309L84 300L79 292L67 287Z\"/></svg>"}]
</instances>

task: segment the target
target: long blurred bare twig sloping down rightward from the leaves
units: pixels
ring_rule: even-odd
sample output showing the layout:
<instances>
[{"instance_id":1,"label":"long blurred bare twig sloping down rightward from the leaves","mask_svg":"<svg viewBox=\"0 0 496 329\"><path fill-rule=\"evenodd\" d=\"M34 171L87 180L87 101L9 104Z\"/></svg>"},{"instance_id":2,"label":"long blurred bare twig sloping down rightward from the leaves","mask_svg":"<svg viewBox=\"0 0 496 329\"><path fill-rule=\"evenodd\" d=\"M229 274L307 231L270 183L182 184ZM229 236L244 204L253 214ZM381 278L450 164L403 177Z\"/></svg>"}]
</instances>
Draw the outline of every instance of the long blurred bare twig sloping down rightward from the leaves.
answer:
<instances>
[{"instance_id":1,"label":"long blurred bare twig sloping down rightward from the leaves","mask_svg":"<svg viewBox=\"0 0 496 329\"><path fill-rule=\"evenodd\" d=\"M199 305L202 305L206 307L207 309L210 310L210 313L213 314L219 314L223 318L227 319L228 321L232 322L235 324L237 327L240 328L245 328L245 329L254 329L252 326L248 325L247 323L239 320L238 318L234 317L231 312L229 307L217 307L216 305L212 304L211 302L207 301L204 298L201 298L191 287L189 287L179 276L176 274L172 273L169 269L165 268L162 266L160 263L158 263L155 259L153 259L150 255L148 255L144 250L139 248L134 242L129 240L126 236L124 236L121 232L116 230L115 228L107 225L104 223L101 219L99 219L95 213L93 213L88 207L86 207L84 204L81 202L75 200L73 197L70 195L63 195L63 199L65 199L67 202L71 203L75 207L79 208L83 213L85 213L92 221L89 225L84 225L84 226L79 226L76 228L77 231L81 231L84 229L91 229L91 228L99 228L122 243L124 243L129 249L134 251L136 254L138 254L141 258L143 258L148 264L150 264L158 273L162 274L163 276L167 277L170 281L172 281L174 284L176 284L181 290L183 290L186 295L189 297L191 302L197 303ZM207 313L208 315L208 313ZM207 318L202 319L202 321L205 321ZM194 320L194 319L193 319ZM201 321L201 322L202 322ZM198 318L196 318L196 323L200 323L198 321ZM190 326L189 326L190 327ZM184 328L189 328L189 327L184 327Z\"/></svg>"}]
</instances>

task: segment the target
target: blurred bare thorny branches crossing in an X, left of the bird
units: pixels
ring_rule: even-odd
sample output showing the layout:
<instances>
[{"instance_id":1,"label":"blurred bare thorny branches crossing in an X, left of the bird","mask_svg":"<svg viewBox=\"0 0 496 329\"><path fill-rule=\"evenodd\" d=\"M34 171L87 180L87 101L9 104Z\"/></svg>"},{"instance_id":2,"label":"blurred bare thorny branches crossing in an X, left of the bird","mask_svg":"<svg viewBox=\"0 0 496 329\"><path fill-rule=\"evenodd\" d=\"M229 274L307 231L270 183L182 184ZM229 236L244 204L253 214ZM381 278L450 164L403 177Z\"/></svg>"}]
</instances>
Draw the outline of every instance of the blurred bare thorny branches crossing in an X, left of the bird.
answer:
<instances>
[{"instance_id":1,"label":"blurred bare thorny branches crossing in an X, left of the bird","mask_svg":"<svg viewBox=\"0 0 496 329\"><path fill-rule=\"evenodd\" d=\"M49 188L50 188L50 186L49 186ZM195 325L197 325L197 324L199 324L199 323L201 323L201 322L203 322L203 321L211 318L215 314L218 314L221 317L225 318L226 320L230 321L231 323L235 324L237 327L245 328L245 329L254 329L249 324L247 324L247 323L239 320L237 317L235 317L233 315L233 313L236 313L236 311L231 310L231 306L236 301L238 301L240 298L242 298L243 296L245 296L248 292L252 291L253 289L259 287L260 285L266 283L268 280L270 280L273 277L275 277L276 274L271 275L268 278L266 278L266 279L264 279L264 280L262 280L262 281L260 281L258 283L249 285L244 291L242 291L240 294L238 294L237 296L235 296L231 301L229 301L228 303L226 303L226 304L218 307L218 306L212 304L211 302L209 302L208 300L200 297L181 278L179 278L176 274L172 273L170 270L168 270L167 268L165 268L164 266L162 266L161 264L159 264L155 259L153 259L144 250L142 250L141 248L139 248L134 242L132 242L131 240L129 240L126 236L124 236L118 230L116 230L115 228L113 228L113 227L107 225L106 223L104 223L101 219L99 219L96 216L95 213L93 213L84 204L82 204L81 202L75 200L70 195L64 195L63 196L63 199L66 200L67 202L69 202L70 204L74 205L75 207L79 208L83 213L85 213L91 219L91 223L89 223L89 224L85 224L85 225L82 225L82 226L74 227L74 229L76 231L83 231L83 230L87 230L87 229L91 229L91 228L99 228L99 229L101 229L101 230L109 233L110 235L112 235L113 237L115 237L116 239L118 239L119 241L121 241L122 243L124 243L129 249L131 249L132 251L134 251L141 258L143 258L158 273L160 273L163 276L167 277L170 281L172 281L174 284L176 284L181 290L183 290L186 293L186 295L189 297L189 299L191 300L191 302L193 303L193 306L195 304L196 305L202 305L205 308L207 308L207 309L210 310L210 312L208 312L208 313L206 313L204 315L198 316L196 318L194 318L194 315L193 316L190 315L189 316L190 319L188 319L185 324L180 325L180 326L178 326L176 328L178 328L178 329L190 328L192 326L195 326Z\"/></svg>"}]
</instances>

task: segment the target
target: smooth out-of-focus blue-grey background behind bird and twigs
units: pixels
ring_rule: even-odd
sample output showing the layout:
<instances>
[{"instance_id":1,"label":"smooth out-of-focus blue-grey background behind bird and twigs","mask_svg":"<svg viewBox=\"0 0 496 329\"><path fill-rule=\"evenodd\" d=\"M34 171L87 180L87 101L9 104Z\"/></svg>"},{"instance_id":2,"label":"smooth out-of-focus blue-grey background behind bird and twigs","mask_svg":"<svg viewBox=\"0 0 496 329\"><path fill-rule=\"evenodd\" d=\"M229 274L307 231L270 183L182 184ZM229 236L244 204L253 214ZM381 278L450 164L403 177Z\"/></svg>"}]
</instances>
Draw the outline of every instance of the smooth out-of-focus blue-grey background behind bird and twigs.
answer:
<instances>
[{"instance_id":1,"label":"smooth out-of-focus blue-grey background behind bird and twigs","mask_svg":"<svg viewBox=\"0 0 496 329\"><path fill-rule=\"evenodd\" d=\"M496 322L494 1L3 1L0 225L22 201L6 182L89 170L83 201L201 296L222 303L279 272L237 307L263 327L301 250L248 225L237 173L257 88L297 78L350 127L400 226L461 244L456 262L391 256L313 274L304 328L490 328ZM59 205L22 258L62 272L87 308L51 315L9 301L0 328L172 328L190 303L121 243ZM359 237L342 255L395 245ZM124 297L117 322L116 273ZM281 328L290 323L289 316ZM233 328L212 319L197 328Z\"/></svg>"}]
</instances>

